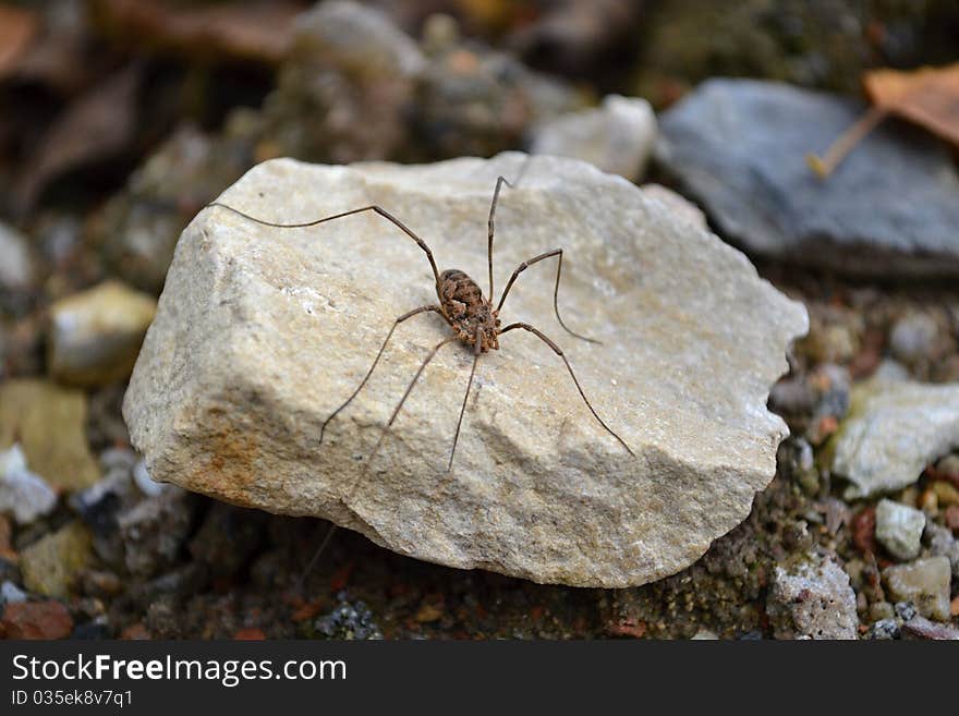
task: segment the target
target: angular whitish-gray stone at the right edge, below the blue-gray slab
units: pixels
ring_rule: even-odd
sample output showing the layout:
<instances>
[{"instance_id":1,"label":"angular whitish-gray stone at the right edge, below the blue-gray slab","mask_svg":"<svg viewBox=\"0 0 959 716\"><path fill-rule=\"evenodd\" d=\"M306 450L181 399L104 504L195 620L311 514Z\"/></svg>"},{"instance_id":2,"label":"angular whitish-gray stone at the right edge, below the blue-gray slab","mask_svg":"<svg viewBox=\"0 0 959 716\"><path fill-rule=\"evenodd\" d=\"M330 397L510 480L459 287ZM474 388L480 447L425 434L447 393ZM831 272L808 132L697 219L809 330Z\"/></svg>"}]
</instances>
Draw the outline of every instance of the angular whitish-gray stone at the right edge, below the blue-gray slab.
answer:
<instances>
[{"instance_id":1,"label":"angular whitish-gray stone at the right edge, below the blue-gray slab","mask_svg":"<svg viewBox=\"0 0 959 716\"><path fill-rule=\"evenodd\" d=\"M834 438L833 473L846 499L900 489L959 445L959 384L926 385L883 376L855 386Z\"/></svg>"}]
</instances>

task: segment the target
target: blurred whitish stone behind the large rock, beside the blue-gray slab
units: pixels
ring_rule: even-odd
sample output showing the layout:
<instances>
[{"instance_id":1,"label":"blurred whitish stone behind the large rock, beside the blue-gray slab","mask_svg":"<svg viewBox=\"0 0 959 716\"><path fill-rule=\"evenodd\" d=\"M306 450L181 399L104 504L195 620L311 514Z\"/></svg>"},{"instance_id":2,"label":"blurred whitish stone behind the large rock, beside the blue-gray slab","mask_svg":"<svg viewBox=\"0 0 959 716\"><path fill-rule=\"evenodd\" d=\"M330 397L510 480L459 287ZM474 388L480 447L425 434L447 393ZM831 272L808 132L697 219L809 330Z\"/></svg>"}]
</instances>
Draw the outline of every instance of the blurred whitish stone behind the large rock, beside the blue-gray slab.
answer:
<instances>
[{"instance_id":1,"label":"blurred whitish stone behind the large rock, beside the blue-gray slab","mask_svg":"<svg viewBox=\"0 0 959 716\"><path fill-rule=\"evenodd\" d=\"M533 129L530 150L588 161L630 181L646 171L656 142L656 116L645 99L609 95L602 107L548 120Z\"/></svg>"}]
</instances>

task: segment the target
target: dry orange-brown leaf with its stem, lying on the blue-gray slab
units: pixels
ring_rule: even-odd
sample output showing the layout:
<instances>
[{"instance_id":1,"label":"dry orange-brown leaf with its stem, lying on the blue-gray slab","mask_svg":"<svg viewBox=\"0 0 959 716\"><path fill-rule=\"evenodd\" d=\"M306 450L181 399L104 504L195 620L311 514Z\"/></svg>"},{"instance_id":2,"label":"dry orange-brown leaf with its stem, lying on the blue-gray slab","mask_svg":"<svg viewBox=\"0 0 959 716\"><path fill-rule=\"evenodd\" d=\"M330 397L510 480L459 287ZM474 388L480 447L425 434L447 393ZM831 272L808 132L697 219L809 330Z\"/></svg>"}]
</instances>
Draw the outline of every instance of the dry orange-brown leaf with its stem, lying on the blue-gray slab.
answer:
<instances>
[{"instance_id":1,"label":"dry orange-brown leaf with its stem, lying on the blue-gray slab","mask_svg":"<svg viewBox=\"0 0 959 716\"><path fill-rule=\"evenodd\" d=\"M909 72L874 70L866 72L862 82L873 107L822 157L806 156L810 167L821 179L833 173L846 155L890 113L959 146L959 62Z\"/></svg>"}]
</instances>

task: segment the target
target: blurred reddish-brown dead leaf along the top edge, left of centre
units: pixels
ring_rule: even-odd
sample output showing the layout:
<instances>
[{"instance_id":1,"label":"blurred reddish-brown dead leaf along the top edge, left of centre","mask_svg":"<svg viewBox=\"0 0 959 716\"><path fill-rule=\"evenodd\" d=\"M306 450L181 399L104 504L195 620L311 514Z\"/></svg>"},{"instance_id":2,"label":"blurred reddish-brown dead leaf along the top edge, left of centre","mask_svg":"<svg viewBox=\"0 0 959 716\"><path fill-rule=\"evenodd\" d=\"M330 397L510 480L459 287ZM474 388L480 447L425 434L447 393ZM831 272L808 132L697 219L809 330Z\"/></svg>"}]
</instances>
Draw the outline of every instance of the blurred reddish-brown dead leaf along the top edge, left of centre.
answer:
<instances>
[{"instance_id":1,"label":"blurred reddish-brown dead leaf along the top edge, left of centre","mask_svg":"<svg viewBox=\"0 0 959 716\"><path fill-rule=\"evenodd\" d=\"M165 0L97 0L97 21L123 39L205 58L278 63L293 39L293 17L303 5L232 2L190 7Z\"/></svg>"}]
</instances>

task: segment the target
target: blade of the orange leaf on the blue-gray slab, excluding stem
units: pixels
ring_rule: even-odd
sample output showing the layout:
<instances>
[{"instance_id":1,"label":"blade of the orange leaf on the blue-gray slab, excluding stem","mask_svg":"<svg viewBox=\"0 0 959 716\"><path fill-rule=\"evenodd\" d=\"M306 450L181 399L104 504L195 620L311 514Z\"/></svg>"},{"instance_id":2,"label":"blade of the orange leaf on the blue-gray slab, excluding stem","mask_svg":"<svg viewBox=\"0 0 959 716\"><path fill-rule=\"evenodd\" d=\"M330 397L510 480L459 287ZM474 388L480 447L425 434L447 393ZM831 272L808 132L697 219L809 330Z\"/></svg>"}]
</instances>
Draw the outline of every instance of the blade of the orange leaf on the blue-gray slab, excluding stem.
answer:
<instances>
[{"instance_id":1,"label":"blade of the orange leaf on the blue-gray slab, excluding stem","mask_svg":"<svg viewBox=\"0 0 959 716\"><path fill-rule=\"evenodd\" d=\"M877 107L959 146L959 62L911 72L866 72L863 85Z\"/></svg>"}]
</instances>

